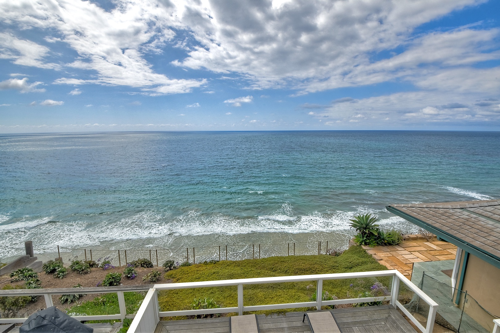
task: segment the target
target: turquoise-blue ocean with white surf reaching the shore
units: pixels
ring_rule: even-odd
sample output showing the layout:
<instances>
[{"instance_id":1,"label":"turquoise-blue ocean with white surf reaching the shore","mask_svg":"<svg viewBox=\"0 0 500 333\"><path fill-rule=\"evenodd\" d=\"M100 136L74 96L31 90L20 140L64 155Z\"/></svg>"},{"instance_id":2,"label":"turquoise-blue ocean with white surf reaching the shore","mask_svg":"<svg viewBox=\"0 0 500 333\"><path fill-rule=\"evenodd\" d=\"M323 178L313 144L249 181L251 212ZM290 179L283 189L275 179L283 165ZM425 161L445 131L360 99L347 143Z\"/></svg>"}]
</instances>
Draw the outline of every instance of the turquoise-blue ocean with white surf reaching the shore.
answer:
<instances>
[{"instance_id":1,"label":"turquoise-blue ocean with white surf reaching the shore","mask_svg":"<svg viewBox=\"0 0 500 333\"><path fill-rule=\"evenodd\" d=\"M346 238L384 206L498 198L500 132L0 136L0 258L101 246Z\"/></svg>"}]
</instances>

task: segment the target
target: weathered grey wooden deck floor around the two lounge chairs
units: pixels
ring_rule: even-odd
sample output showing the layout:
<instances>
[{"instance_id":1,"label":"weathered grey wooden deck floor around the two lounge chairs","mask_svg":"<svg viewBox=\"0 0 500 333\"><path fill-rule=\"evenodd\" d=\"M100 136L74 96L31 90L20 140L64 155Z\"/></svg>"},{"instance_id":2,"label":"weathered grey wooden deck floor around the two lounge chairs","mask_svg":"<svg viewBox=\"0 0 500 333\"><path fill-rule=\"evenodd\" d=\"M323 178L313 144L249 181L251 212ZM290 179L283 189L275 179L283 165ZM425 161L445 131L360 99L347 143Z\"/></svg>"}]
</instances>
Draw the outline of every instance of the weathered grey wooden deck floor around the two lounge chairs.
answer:
<instances>
[{"instance_id":1,"label":"weathered grey wooden deck floor around the two lounge chairs","mask_svg":"<svg viewBox=\"0 0 500 333\"><path fill-rule=\"evenodd\" d=\"M323 310L331 311L342 333L416 333L392 306ZM303 312L258 315L260 333L310 333ZM154 333L229 333L227 317L159 322Z\"/></svg>"}]
</instances>

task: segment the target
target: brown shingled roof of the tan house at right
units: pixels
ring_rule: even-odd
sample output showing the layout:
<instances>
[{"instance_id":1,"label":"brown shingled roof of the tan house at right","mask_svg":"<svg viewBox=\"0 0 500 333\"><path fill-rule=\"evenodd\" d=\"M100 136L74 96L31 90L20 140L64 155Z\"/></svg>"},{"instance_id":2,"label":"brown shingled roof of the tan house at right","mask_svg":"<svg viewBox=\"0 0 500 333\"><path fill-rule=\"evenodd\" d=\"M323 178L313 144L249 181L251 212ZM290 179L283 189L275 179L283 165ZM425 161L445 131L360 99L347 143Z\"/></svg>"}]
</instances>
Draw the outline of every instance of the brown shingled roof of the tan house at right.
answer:
<instances>
[{"instance_id":1,"label":"brown shingled roof of the tan house at right","mask_svg":"<svg viewBox=\"0 0 500 333\"><path fill-rule=\"evenodd\" d=\"M385 208L500 267L500 200L397 204Z\"/></svg>"}]
</instances>

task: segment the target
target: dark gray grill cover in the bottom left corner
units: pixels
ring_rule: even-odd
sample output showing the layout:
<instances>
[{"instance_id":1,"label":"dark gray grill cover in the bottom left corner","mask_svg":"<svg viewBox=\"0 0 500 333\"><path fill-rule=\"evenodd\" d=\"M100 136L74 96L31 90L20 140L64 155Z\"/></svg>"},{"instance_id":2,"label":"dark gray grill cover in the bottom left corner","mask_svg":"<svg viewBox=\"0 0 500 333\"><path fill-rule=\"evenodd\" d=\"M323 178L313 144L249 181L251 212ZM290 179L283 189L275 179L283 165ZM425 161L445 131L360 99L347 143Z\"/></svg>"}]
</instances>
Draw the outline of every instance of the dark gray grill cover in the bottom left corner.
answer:
<instances>
[{"instance_id":1,"label":"dark gray grill cover in the bottom left corner","mask_svg":"<svg viewBox=\"0 0 500 333\"><path fill-rule=\"evenodd\" d=\"M19 327L19 333L93 333L93 329L81 324L55 307L35 312Z\"/></svg>"}]
</instances>

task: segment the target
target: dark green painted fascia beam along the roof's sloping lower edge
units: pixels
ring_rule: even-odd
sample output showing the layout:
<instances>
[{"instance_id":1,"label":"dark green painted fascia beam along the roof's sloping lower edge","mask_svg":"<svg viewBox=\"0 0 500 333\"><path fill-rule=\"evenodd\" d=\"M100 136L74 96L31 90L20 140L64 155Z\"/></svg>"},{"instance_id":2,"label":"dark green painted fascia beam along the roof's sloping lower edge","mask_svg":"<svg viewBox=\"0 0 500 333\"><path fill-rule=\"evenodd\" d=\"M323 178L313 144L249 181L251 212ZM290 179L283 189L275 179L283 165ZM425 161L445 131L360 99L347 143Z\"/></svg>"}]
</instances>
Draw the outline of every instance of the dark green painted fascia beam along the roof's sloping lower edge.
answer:
<instances>
[{"instance_id":1,"label":"dark green painted fascia beam along the roof's sloping lower edge","mask_svg":"<svg viewBox=\"0 0 500 333\"><path fill-rule=\"evenodd\" d=\"M486 252L486 251L484 251L484 250L482 250L474 245L471 245L471 244L459 239L456 236L450 235L447 232L445 232L439 228L431 226L428 223L425 223L425 222L423 222L423 221L421 221L421 220L419 220L411 215L403 213L400 210L398 210L397 208L394 208L392 206L385 206L385 209L387 211L391 212L392 214L395 214L399 217L402 217L403 219L405 219L408 222L411 222L411 223L413 223L413 224L415 224L415 225L417 225L425 230L430 231L431 233L433 233L437 237L445 240L446 242L451 243L451 244L457 246L458 248L465 250L469 254L471 254L477 258L480 258L480 259L484 260L486 263L491 264L494 267L500 269L500 258L493 256L492 254L490 254L490 253L488 253L488 252Z\"/></svg>"}]
</instances>

